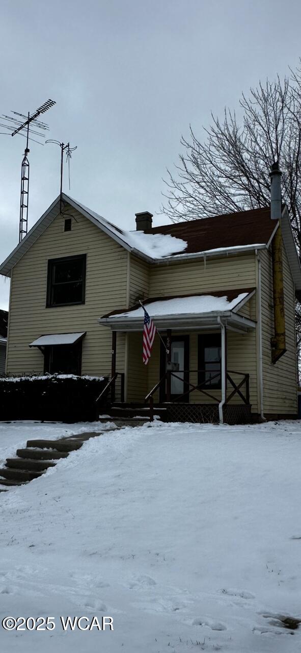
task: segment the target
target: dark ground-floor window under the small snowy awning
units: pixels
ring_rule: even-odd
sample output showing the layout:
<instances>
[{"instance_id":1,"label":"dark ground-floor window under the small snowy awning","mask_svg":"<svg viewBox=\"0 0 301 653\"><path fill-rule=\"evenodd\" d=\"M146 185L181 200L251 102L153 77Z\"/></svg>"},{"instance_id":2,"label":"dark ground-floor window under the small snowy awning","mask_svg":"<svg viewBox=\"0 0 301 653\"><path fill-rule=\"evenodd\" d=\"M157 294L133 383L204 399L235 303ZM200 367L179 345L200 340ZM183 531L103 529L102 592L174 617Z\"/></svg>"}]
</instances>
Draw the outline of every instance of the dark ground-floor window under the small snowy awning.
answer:
<instances>
[{"instance_id":1,"label":"dark ground-floor window under the small snowy awning","mask_svg":"<svg viewBox=\"0 0 301 653\"><path fill-rule=\"evenodd\" d=\"M74 345L51 345L45 347L44 374L81 375L82 340Z\"/></svg>"}]
</instances>

